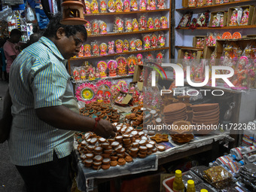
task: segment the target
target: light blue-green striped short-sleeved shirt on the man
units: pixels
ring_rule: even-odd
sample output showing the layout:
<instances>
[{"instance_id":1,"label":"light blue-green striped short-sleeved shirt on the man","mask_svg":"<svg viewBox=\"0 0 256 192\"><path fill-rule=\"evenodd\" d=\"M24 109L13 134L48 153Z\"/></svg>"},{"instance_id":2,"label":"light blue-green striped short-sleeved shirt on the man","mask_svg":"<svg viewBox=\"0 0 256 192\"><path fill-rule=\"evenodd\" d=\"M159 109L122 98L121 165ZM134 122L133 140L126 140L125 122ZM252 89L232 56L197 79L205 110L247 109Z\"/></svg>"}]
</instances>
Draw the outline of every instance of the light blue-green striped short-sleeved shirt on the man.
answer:
<instances>
[{"instance_id":1,"label":"light blue-green striped short-sleeved shirt on the man","mask_svg":"<svg viewBox=\"0 0 256 192\"><path fill-rule=\"evenodd\" d=\"M79 113L66 59L56 45L42 37L17 56L11 66L9 90L13 123L8 147L11 162L32 166L72 151L73 131L59 130L39 120L36 108L64 105ZM50 115L50 114L49 114Z\"/></svg>"}]
</instances>

